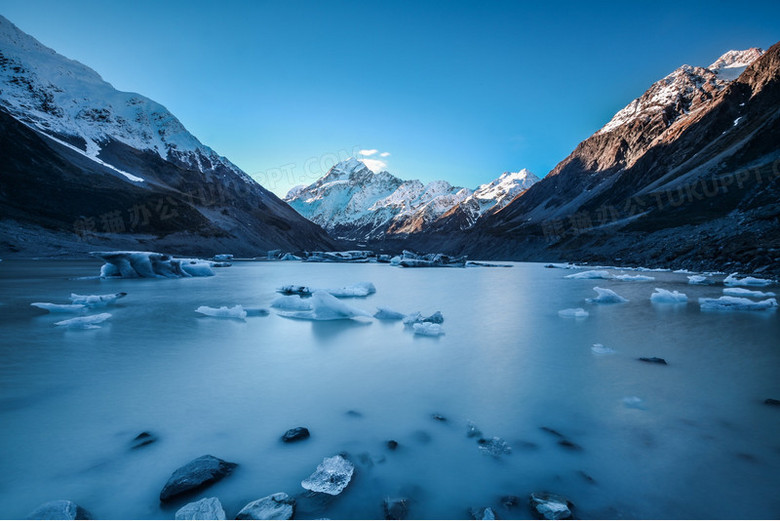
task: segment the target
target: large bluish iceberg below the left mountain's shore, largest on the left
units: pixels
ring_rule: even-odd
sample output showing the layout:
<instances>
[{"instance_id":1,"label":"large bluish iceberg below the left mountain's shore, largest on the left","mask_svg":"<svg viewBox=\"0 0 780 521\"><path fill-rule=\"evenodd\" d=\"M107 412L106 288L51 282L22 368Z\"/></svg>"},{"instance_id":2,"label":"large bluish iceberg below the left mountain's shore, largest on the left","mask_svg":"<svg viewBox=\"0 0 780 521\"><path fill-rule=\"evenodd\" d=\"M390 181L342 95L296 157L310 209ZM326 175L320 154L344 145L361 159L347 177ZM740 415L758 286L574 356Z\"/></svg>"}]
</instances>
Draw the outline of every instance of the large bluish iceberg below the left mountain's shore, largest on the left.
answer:
<instances>
[{"instance_id":1,"label":"large bluish iceberg below the left mountain's shore, largest on the left","mask_svg":"<svg viewBox=\"0 0 780 521\"><path fill-rule=\"evenodd\" d=\"M164 253L148 251L92 252L107 264L100 268L101 277L209 277L214 275L210 261L174 259Z\"/></svg>"}]
</instances>

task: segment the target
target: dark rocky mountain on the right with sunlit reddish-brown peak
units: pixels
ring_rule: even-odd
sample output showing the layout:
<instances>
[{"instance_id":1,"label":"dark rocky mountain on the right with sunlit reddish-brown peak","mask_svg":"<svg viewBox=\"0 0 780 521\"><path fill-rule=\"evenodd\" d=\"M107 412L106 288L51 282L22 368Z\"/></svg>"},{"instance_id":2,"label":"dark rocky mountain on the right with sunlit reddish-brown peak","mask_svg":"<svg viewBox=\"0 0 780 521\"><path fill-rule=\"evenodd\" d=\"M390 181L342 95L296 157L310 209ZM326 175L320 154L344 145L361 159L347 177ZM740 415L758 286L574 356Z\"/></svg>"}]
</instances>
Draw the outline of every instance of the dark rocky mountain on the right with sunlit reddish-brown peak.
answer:
<instances>
[{"instance_id":1,"label":"dark rocky mountain on the right with sunlit reddish-brown peak","mask_svg":"<svg viewBox=\"0 0 780 521\"><path fill-rule=\"evenodd\" d=\"M653 84L545 179L450 240L488 257L772 269L778 143L780 45L730 51Z\"/></svg>"}]
</instances>

